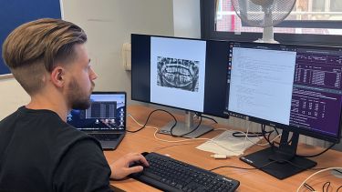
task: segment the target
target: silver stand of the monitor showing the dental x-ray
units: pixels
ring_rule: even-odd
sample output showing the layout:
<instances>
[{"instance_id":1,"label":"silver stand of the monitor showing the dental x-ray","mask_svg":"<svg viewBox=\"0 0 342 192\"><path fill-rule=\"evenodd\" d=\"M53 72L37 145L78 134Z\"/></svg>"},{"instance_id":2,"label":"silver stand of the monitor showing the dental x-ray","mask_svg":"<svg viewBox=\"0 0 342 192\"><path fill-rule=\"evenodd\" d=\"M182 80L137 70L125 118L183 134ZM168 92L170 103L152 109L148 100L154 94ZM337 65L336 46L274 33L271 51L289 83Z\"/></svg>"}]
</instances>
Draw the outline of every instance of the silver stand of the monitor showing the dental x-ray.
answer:
<instances>
[{"instance_id":1,"label":"silver stand of the monitor showing the dental x-ray","mask_svg":"<svg viewBox=\"0 0 342 192\"><path fill-rule=\"evenodd\" d=\"M177 122L177 125L172 128L173 136L182 136L186 133L191 132L194 128L196 128L197 124L193 124L193 116L194 113L190 111L185 111L185 122ZM169 122L166 126L161 127L159 133L171 135L171 127L174 125L174 121ZM196 130L192 133L184 135L184 137L188 138L196 138L198 136L202 136L203 134L212 131L212 126L200 125Z\"/></svg>"}]
</instances>

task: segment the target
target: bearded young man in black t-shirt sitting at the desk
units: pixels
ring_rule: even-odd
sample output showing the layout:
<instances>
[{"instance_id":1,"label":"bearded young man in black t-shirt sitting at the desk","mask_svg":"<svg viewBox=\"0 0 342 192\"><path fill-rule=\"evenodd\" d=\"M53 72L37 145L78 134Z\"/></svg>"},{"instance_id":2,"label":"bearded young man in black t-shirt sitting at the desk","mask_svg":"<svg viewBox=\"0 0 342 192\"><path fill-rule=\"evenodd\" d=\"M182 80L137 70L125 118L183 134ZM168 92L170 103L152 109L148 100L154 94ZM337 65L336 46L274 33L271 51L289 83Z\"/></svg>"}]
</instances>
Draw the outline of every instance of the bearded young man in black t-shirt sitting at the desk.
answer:
<instances>
[{"instance_id":1,"label":"bearded young man in black t-shirt sitting at the desk","mask_svg":"<svg viewBox=\"0 0 342 192\"><path fill-rule=\"evenodd\" d=\"M0 121L0 191L110 191L148 162L129 154L108 165L98 141L67 125L67 113L86 109L97 75L90 66L87 35L59 19L17 27L5 39L3 58L31 96Z\"/></svg>"}]
</instances>

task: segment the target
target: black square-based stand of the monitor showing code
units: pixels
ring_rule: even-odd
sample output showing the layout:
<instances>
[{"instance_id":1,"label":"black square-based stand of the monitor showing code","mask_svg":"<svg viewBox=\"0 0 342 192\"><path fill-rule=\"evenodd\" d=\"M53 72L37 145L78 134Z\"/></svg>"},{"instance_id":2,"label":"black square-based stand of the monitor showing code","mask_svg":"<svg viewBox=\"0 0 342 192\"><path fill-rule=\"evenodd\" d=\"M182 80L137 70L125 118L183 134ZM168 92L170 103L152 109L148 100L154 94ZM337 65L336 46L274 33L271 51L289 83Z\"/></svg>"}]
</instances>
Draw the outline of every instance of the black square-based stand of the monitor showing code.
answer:
<instances>
[{"instance_id":1,"label":"black square-based stand of the monitor showing code","mask_svg":"<svg viewBox=\"0 0 342 192\"><path fill-rule=\"evenodd\" d=\"M299 134L293 133L291 144L287 143L288 136L289 131L283 130L279 147L265 148L240 157L240 160L278 179L291 177L308 168L315 167L317 164L315 161L295 156Z\"/></svg>"}]
</instances>

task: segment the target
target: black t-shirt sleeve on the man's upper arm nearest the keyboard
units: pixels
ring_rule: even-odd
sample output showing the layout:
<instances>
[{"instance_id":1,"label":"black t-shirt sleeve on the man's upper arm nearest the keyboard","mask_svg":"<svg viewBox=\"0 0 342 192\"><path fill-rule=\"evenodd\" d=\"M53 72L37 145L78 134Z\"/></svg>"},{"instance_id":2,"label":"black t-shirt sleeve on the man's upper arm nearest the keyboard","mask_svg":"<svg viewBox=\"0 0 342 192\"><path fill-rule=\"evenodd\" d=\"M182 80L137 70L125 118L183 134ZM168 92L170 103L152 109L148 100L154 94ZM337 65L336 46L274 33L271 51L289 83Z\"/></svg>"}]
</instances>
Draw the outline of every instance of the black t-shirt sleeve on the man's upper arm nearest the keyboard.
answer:
<instances>
[{"instance_id":1,"label":"black t-shirt sleeve on the man's upper arm nearest the keyboard","mask_svg":"<svg viewBox=\"0 0 342 192\"><path fill-rule=\"evenodd\" d=\"M110 168L100 147L91 139L70 147L57 166L54 191L112 191Z\"/></svg>"}]
</instances>

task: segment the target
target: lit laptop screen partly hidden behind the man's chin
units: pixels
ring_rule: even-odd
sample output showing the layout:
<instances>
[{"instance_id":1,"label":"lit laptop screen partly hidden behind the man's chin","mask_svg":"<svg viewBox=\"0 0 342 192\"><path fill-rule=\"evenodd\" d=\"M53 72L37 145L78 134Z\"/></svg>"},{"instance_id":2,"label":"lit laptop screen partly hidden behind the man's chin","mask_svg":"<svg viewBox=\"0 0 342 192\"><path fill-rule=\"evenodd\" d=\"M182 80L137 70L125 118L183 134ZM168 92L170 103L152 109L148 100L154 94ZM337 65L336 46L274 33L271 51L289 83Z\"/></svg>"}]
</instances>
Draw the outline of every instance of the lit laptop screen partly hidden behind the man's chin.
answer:
<instances>
[{"instance_id":1,"label":"lit laptop screen partly hidden behind the man's chin","mask_svg":"<svg viewBox=\"0 0 342 192\"><path fill-rule=\"evenodd\" d=\"M82 131L125 130L125 92L93 92L90 102L86 110L71 110L67 123Z\"/></svg>"}]
</instances>

